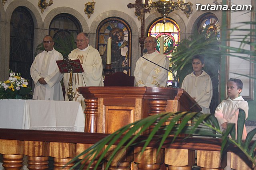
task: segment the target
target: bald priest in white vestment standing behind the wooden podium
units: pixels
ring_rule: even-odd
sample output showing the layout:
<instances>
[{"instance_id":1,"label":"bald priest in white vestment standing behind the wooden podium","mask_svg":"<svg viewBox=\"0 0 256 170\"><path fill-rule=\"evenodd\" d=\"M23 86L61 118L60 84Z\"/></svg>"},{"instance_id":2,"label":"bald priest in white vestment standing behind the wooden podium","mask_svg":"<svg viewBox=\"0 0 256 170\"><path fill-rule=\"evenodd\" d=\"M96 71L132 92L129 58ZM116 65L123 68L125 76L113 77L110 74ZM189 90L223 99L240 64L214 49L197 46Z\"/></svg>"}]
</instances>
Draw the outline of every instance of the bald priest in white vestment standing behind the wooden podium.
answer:
<instances>
[{"instance_id":1,"label":"bald priest in white vestment standing behind the wooden podium","mask_svg":"<svg viewBox=\"0 0 256 170\"><path fill-rule=\"evenodd\" d=\"M156 38L146 37L147 53L136 62L134 70L135 86L138 87L166 87L169 70L169 59L155 50ZM150 62L151 61L151 62ZM165 70L164 68L167 70Z\"/></svg>"}]
</instances>

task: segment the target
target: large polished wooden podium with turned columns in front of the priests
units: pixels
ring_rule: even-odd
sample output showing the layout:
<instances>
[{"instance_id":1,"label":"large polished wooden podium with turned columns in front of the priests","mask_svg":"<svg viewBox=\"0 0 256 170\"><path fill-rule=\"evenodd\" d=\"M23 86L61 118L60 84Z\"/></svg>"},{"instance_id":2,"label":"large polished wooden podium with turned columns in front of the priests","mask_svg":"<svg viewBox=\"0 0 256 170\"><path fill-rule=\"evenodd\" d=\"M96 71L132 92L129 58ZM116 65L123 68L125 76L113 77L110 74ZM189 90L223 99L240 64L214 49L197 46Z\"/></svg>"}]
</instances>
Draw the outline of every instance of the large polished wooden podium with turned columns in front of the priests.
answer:
<instances>
[{"instance_id":1,"label":"large polished wooden podium with turned columns in front of the priests","mask_svg":"<svg viewBox=\"0 0 256 170\"><path fill-rule=\"evenodd\" d=\"M84 131L113 133L124 125L168 111L201 111L181 88L79 87L85 98Z\"/></svg>"}]
</instances>

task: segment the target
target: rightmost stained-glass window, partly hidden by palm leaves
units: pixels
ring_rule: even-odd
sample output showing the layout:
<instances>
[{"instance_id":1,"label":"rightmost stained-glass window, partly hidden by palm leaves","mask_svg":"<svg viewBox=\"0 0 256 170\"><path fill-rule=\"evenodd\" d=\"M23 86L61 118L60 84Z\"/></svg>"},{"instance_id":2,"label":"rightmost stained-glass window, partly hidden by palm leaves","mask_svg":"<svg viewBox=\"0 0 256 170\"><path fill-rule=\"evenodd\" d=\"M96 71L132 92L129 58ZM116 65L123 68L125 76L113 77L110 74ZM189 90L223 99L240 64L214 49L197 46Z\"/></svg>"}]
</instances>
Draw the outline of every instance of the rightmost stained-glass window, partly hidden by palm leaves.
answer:
<instances>
[{"instance_id":1,"label":"rightmost stained-glass window, partly hidden by palm leaves","mask_svg":"<svg viewBox=\"0 0 256 170\"><path fill-rule=\"evenodd\" d=\"M197 25L198 32L204 34L206 38L215 35L220 41L220 22L214 14L207 14L200 19Z\"/></svg>"}]
</instances>

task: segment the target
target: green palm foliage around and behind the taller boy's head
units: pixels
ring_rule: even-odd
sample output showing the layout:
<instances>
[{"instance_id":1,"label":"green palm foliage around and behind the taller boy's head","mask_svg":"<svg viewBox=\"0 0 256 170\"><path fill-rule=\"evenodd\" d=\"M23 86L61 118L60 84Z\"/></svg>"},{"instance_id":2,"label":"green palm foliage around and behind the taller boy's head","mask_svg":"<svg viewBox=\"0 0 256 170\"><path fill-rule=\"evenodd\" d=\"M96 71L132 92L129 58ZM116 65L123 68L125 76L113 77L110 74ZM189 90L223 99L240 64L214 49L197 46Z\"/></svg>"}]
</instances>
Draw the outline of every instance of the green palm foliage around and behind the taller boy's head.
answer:
<instances>
[{"instance_id":1,"label":"green palm foliage around and behind the taller boy's head","mask_svg":"<svg viewBox=\"0 0 256 170\"><path fill-rule=\"evenodd\" d=\"M186 75L193 71L192 57L202 55L204 57L204 70L212 77L220 69L219 42L216 37L205 38L204 35L195 34L189 39L182 39L178 47L174 49L170 59L170 70L183 81ZM176 79L177 79L176 78Z\"/></svg>"}]
</instances>

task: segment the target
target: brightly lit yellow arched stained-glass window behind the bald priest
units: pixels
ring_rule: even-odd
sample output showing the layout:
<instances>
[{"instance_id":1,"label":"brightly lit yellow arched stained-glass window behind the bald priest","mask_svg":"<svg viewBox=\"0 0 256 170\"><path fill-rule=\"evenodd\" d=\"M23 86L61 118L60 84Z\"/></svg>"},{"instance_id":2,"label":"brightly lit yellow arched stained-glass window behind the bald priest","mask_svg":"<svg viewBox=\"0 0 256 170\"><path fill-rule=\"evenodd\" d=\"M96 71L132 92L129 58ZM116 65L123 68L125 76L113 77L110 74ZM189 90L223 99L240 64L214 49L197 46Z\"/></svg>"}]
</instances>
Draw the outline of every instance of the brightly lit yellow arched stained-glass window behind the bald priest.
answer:
<instances>
[{"instance_id":1,"label":"brightly lit yellow arched stained-glass window behind the bald priest","mask_svg":"<svg viewBox=\"0 0 256 170\"><path fill-rule=\"evenodd\" d=\"M160 37L164 37L164 54L168 57L172 56L172 51L180 42L180 27L176 21L171 18L166 18L166 23L163 24L163 18L160 18L152 23L148 29L148 36L156 37L156 50L160 51ZM172 74L168 74L168 82L172 81Z\"/></svg>"}]
</instances>

